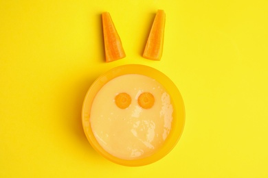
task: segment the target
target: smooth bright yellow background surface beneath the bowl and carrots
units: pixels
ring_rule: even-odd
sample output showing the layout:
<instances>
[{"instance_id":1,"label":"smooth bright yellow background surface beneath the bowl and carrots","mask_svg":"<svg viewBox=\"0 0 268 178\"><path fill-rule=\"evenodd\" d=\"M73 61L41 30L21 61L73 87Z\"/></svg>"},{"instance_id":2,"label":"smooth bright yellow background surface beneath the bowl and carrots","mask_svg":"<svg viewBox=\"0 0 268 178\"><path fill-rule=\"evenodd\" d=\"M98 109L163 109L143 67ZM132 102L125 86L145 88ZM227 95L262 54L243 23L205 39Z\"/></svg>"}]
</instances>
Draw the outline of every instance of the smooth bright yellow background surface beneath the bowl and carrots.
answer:
<instances>
[{"instance_id":1,"label":"smooth bright yellow background surface beneath the bowl and carrots","mask_svg":"<svg viewBox=\"0 0 268 178\"><path fill-rule=\"evenodd\" d=\"M157 9L161 61L141 57ZM0 1L0 177L268 177L268 1ZM126 58L104 62L100 14ZM81 124L92 82L122 64L165 73L186 105L159 162L113 164Z\"/></svg>"}]
</instances>

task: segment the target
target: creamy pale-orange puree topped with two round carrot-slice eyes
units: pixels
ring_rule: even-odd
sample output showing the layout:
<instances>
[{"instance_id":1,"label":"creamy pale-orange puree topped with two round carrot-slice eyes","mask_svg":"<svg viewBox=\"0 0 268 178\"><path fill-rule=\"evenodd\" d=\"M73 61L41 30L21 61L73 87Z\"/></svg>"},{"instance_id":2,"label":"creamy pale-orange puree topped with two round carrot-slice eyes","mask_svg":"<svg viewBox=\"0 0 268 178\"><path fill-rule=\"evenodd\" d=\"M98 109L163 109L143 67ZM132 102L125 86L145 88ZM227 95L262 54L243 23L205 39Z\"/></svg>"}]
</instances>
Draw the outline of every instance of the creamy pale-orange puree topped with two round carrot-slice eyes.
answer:
<instances>
[{"instance_id":1,"label":"creamy pale-orange puree topped with two round carrot-slice eyes","mask_svg":"<svg viewBox=\"0 0 268 178\"><path fill-rule=\"evenodd\" d=\"M111 79L93 99L90 124L100 146L135 160L155 153L172 125L170 96L158 81L139 74Z\"/></svg>"}]
</instances>

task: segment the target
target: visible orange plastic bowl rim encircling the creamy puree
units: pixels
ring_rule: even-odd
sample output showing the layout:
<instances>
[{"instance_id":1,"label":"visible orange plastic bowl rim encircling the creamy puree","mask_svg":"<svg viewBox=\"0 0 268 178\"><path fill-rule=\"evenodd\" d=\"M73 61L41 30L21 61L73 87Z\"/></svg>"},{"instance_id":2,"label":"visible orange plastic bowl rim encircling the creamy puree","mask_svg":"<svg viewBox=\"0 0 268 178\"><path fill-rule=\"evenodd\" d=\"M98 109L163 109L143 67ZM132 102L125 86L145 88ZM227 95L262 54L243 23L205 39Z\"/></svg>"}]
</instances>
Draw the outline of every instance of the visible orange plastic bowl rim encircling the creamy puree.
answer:
<instances>
[{"instance_id":1,"label":"visible orange plastic bowl rim encircling the creamy puree","mask_svg":"<svg viewBox=\"0 0 268 178\"><path fill-rule=\"evenodd\" d=\"M105 151L93 135L93 131L91 130L90 125L91 105L100 88L107 84L107 82L111 79L126 74L145 75L155 79L162 86L164 86L168 94L170 94L170 98L173 105L172 127L168 138L166 138L164 144L157 150L156 153L137 160L122 160ZM179 138L181 137L181 133L183 132L184 123L185 109L183 105L183 99L175 84L166 75L157 71L155 68L139 64L118 66L112 68L107 73L100 75L100 77L98 77L98 79L96 79L96 81L94 81L89 88L85 96L84 103L82 105L82 126L85 131L85 135L87 136L87 140L89 140L93 149L95 149L98 153L100 153L100 155L107 158L111 162L121 164L123 166L144 166L146 164L151 164L153 162L156 162L157 160L160 160L162 157L167 155L177 144Z\"/></svg>"}]
</instances>

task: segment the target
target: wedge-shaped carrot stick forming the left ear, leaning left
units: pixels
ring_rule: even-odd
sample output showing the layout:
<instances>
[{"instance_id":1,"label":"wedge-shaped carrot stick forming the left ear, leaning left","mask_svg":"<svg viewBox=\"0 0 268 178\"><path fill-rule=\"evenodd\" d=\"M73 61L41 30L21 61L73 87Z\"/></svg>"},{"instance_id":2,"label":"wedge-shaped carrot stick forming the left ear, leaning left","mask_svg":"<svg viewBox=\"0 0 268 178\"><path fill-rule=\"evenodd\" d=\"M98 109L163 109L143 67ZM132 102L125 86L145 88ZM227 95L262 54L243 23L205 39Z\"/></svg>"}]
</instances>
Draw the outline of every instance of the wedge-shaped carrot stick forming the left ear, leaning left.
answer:
<instances>
[{"instance_id":1,"label":"wedge-shaped carrot stick forming the left ear, leaning left","mask_svg":"<svg viewBox=\"0 0 268 178\"><path fill-rule=\"evenodd\" d=\"M102 13L102 27L106 62L120 60L126 57L120 36L115 29L109 12Z\"/></svg>"}]
</instances>

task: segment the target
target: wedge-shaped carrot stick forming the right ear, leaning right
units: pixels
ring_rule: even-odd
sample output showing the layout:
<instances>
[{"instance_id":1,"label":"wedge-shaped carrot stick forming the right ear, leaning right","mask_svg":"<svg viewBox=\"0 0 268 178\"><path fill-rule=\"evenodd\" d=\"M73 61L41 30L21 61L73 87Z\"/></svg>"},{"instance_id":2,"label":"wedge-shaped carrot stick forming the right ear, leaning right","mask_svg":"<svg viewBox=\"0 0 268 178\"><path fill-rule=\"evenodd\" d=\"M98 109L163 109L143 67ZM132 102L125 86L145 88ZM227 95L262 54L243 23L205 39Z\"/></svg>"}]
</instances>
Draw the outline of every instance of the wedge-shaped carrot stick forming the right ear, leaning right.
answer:
<instances>
[{"instance_id":1,"label":"wedge-shaped carrot stick forming the right ear, leaning right","mask_svg":"<svg viewBox=\"0 0 268 178\"><path fill-rule=\"evenodd\" d=\"M164 44L165 21L166 14L164 10L158 10L144 49L144 58L149 60L161 60Z\"/></svg>"}]
</instances>

